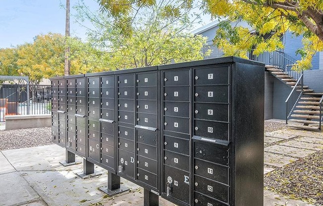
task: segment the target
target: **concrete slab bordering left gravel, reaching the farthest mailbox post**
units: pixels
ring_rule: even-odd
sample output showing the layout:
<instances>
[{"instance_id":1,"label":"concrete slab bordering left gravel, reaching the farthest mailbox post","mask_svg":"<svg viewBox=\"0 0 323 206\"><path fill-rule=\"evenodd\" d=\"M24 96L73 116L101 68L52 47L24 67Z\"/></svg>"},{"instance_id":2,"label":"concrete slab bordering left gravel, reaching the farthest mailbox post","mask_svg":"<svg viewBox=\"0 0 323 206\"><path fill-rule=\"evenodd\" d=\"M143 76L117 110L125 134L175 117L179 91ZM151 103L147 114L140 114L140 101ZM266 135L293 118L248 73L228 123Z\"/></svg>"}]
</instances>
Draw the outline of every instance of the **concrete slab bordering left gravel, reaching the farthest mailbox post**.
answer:
<instances>
[{"instance_id":1,"label":"concrete slab bordering left gravel, reaching the farthest mailbox post","mask_svg":"<svg viewBox=\"0 0 323 206\"><path fill-rule=\"evenodd\" d=\"M33 148L4 150L3 155L17 171L66 170L59 161L65 159L65 149L57 145L47 145ZM83 158L76 156L77 161ZM82 168L82 164L69 166L70 169Z\"/></svg>"}]
</instances>

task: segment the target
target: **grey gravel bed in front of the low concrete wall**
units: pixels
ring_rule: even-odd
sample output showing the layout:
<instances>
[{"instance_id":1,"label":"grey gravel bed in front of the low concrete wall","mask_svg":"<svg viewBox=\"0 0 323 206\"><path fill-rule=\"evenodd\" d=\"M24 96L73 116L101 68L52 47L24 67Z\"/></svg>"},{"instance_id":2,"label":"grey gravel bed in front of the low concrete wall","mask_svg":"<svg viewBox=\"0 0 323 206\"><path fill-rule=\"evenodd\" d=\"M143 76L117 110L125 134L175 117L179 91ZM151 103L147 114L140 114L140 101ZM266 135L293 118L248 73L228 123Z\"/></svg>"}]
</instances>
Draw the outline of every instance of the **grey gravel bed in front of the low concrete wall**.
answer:
<instances>
[{"instance_id":1,"label":"grey gravel bed in front of the low concrete wall","mask_svg":"<svg viewBox=\"0 0 323 206\"><path fill-rule=\"evenodd\" d=\"M0 131L0 150L51 145L51 127Z\"/></svg>"}]
</instances>

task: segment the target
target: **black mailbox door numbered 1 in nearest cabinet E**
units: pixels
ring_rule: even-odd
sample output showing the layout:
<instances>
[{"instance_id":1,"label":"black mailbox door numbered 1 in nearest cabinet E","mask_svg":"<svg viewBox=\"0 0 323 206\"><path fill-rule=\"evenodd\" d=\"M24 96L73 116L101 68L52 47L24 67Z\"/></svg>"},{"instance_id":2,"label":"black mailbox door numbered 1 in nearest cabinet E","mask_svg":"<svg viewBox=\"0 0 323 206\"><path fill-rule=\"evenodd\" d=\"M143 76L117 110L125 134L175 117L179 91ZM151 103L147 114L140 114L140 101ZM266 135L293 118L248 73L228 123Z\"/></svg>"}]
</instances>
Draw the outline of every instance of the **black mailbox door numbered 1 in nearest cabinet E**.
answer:
<instances>
[{"instance_id":1,"label":"black mailbox door numbered 1 in nearest cabinet E","mask_svg":"<svg viewBox=\"0 0 323 206\"><path fill-rule=\"evenodd\" d=\"M164 86L185 86L190 85L190 70L165 71L163 73Z\"/></svg>"}]
</instances>

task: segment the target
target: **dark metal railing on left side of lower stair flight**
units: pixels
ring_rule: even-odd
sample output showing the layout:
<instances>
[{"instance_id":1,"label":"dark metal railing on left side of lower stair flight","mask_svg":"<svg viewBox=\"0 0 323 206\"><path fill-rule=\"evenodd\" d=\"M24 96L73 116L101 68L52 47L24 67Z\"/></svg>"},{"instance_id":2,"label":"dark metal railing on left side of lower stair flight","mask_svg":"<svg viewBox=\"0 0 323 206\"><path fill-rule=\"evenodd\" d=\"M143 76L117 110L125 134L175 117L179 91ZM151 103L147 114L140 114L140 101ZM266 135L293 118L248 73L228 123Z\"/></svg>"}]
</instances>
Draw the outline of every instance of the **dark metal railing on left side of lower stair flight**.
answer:
<instances>
[{"instance_id":1,"label":"dark metal railing on left side of lower stair flight","mask_svg":"<svg viewBox=\"0 0 323 206\"><path fill-rule=\"evenodd\" d=\"M288 95L285 103L286 103L286 124L289 116L291 115L294 107L296 106L299 98L303 94L303 74L297 80L297 83L294 85L294 88Z\"/></svg>"}]
</instances>

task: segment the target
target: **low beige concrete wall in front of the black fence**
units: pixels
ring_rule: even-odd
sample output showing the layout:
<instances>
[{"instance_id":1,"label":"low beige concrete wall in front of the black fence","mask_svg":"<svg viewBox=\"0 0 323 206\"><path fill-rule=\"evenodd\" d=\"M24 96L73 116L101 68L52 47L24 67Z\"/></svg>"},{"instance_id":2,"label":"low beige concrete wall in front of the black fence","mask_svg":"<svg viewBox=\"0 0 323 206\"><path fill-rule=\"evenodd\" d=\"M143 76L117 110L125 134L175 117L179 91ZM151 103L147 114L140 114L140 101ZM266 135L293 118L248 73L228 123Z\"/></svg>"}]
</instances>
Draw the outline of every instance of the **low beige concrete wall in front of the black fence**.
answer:
<instances>
[{"instance_id":1,"label":"low beige concrete wall in front of the black fence","mask_svg":"<svg viewBox=\"0 0 323 206\"><path fill-rule=\"evenodd\" d=\"M52 125L51 114L6 115L4 118L5 118L5 129L50 127Z\"/></svg>"}]
</instances>

